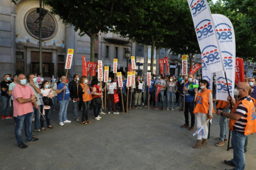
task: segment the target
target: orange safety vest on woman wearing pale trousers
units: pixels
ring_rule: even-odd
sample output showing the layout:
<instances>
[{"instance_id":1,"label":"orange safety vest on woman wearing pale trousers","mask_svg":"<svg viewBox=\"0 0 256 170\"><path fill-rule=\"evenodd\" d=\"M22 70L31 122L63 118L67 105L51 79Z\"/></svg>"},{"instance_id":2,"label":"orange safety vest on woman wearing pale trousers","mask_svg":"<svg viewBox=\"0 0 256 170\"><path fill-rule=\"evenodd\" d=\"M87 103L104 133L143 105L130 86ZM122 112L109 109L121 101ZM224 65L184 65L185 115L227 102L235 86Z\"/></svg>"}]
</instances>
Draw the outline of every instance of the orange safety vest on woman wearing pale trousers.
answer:
<instances>
[{"instance_id":1,"label":"orange safety vest on woman wearing pale trousers","mask_svg":"<svg viewBox=\"0 0 256 170\"><path fill-rule=\"evenodd\" d=\"M198 92L197 93L197 105L194 108L194 112L193 113L208 113L209 110L209 94L210 94L211 90L207 89L204 92ZM214 108L213 108L213 113L215 113Z\"/></svg>"}]
</instances>

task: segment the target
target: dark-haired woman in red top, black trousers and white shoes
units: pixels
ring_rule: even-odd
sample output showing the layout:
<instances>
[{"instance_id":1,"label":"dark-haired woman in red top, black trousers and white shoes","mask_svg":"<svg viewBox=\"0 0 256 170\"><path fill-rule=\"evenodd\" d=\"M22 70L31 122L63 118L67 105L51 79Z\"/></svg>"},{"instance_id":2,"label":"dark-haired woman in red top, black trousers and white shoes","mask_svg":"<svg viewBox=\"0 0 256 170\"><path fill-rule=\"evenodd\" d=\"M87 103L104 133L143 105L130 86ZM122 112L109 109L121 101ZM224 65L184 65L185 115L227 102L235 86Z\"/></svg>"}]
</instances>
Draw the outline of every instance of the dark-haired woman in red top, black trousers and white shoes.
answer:
<instances>
[{"instance_id":1,"label":"dark-haired woman in red top, black trousers and white shoes","mask_svg":"<svg viewBox=\"0 0 256 170\"><path fill-rule=\"evenodd\" d=\"M102 107L102 95L103 93L101 92L100 86L98 86L98 78L93 78L91 87L92 87L92 97L93 97L93 113L95 116L96 120L100 120L100 110Z\"/></svg>"}]
</instances>

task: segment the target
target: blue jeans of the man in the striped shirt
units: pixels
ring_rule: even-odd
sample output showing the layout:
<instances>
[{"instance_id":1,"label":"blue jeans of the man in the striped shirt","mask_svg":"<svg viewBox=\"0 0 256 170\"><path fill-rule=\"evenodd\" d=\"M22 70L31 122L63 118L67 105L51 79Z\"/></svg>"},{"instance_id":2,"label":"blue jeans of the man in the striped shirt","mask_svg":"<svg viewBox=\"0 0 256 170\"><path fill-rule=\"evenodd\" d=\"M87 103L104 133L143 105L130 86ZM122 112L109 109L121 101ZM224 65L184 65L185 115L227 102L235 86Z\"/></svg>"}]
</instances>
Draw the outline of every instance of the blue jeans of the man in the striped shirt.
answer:
<instances>
[{"instance_id":1,"label":"blue jeans of the man in the striped shirt","mask_svg":"<svg viewBox=\"0 0 256 170\"><path fill-rule=\"evenodd\" d=\"M237 131L232 131L231 145L233 147L233 163L236 164L235 170L244 170L245 168L245 156L244 156L244 144L247 136Z\"/></svg>"}]
</instances>

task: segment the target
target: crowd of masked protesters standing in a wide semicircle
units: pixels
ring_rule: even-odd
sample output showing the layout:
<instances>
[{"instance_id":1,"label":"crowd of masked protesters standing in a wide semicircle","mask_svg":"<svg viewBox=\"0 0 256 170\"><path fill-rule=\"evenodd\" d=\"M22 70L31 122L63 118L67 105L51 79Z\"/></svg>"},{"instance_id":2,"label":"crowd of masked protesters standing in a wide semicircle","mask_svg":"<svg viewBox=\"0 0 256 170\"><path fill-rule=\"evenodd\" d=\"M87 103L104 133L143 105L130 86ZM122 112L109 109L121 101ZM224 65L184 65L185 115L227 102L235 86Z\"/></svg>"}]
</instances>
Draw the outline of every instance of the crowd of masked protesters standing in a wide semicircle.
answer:
<instances>
[{"instance_id":1,"label":"crowd of masked protesters standing in a wide semicircle","mask_svg":"<svg viewBox=\"0 0 256 170\"><path fill-rule=\"evenodd\" d=\"M229 128L233 131L231 149L234 150L234 158L230 161L225 160L224 163L235 166L235 169L244 169L248 135L256 131L256 124L252 121L256 118L255 78L249 78L248 83L236 84L234 98L228 97L227 99L231 101L229 103L216 100L216 76L213 76L212 91L209 89L208 81L200 79L199 75L196 77L187 75L185 79L181 75L177 77L151 75L150 86L147 86L142 76L137 76L135 84L131 87L127 87L124 75L122 75L124 80L122 87L119 87L116 75L110 76L108 83L102 84L96 77L89 81L87 77L80 77L77 74L70 82L66 76L61 76L57 82L51 79L50 82L45 80L38 84L36 76L40 75L4 75L4 81L1 82L2 119L14 118L15 138L20 148L27 148L22 139L23 124L27 142L38 140L33 132L45 132L45 120L46 127L53 129L50 115L51 111L56 111L54 109L56 99L59 103L60 126L71 122L70 118L67 119L67 107L70 100L72 100L73 118L82 125L91 123L88 117L90 109L93 110L95 120L100 121L100 115L106 114L103 112L104 107L109 114L113 111L115 115L121 111L126 113L128 110L147 108L148 105L152 105L155 110L161 107L163 111L180 108L179 111L184 111L185 118L185 124L181 128L194 130L195 116L197 128L203 126L205 135L198 134L197 142L193 146L193 148L198 148L207 145L208 127L206 123L208 119L213 118L213 113L215 113L213 103L216 102L216 115L220 115L220 136L216 137L218 140L216 146L220 147L228 142L228 119L230 119ZM157 96L156 86L161 86ZM11 105L13 116L10 115ZM81 118L79 111L82 111ZM32 122L34 123L33 131Z\"/></svg>"}]
</instances>

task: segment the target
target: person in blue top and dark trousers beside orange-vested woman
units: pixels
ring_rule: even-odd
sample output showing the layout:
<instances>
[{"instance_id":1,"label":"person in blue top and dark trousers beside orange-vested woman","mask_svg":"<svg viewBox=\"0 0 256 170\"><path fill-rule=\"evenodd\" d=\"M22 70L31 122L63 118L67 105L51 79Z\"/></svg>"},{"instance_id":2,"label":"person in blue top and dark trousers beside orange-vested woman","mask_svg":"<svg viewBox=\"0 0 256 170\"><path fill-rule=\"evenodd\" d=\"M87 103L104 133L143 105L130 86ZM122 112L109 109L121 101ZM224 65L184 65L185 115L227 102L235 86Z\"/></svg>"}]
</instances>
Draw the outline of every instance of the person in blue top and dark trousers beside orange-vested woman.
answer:
<instances>
[{"instance_id":1,"label":"person in blue top and dark trousers beside orange-vested woman","mask_svg":"<svg viewBox=\"0 0 256 170\"><path fill-rule=\"evenodd\" d=\"M194 75L189 75L188 76L188 83L185 84L185 87L182 89L183 94L185 95L185 111L184 111L184 116L185 116L185 124L181 126L181 128L186 128L189 127L189 111L191 115L191 126L189 127L189 131L194 130L195 126L195 115L193 113L194 111L194 97L195 97L195 88L190 89L190 84L194 84ZM182 86L183 84L181 84ZM182 86L183 87L183 86Z\"/></svg>"}]
</instances>

